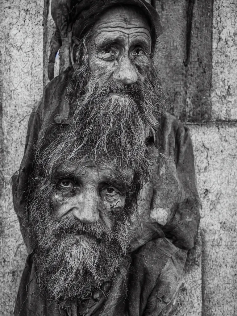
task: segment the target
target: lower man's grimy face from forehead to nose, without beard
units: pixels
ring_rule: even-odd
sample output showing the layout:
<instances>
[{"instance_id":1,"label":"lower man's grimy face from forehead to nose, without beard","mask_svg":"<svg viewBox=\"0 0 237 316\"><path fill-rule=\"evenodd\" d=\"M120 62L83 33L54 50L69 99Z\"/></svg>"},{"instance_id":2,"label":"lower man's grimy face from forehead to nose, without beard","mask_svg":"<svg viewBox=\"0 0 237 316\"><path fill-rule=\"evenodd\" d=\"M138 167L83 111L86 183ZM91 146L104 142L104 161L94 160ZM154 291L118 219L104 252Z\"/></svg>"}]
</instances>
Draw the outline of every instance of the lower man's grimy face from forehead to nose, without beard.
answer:
<instances>
[{"instance_id":1,"label":"lower man's grimy face from forehead to nose, without beard","mask_svg":"<svg viewBox=\"0 0 237 316\"><path fill-rule=\"evenodd\" d=\"M59 221L66 217L85 224L101 222L112 231L116 212L125 206L124 181L132 180L132 172L121 173L114 167L94 167L91 163L76 168L75 163L65 162L52 174L52 182L54 179L59 179L52 193Z\"/></svg>"}]
</instances>

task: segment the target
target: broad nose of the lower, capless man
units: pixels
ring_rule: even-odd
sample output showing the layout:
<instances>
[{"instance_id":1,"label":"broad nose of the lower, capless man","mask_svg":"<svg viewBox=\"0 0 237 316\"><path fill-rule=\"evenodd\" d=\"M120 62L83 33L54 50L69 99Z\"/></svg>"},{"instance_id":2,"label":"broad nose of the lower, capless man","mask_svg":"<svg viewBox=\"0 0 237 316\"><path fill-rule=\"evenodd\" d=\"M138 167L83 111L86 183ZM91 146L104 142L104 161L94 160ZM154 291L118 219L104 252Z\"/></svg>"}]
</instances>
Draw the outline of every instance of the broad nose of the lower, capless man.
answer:
<instances>
[{"instance_id":1,"label":"broad nose of the lower, capless man","mask_svg":"<svg viewBox=\"0 0 237 316\"><path fill-rule=\"evenodd\" d=\"M95 191L83 194L74 203L72 215L85 224L93 224L99 219L98 203L100 197Z\"/></svg>"}]
</instances>

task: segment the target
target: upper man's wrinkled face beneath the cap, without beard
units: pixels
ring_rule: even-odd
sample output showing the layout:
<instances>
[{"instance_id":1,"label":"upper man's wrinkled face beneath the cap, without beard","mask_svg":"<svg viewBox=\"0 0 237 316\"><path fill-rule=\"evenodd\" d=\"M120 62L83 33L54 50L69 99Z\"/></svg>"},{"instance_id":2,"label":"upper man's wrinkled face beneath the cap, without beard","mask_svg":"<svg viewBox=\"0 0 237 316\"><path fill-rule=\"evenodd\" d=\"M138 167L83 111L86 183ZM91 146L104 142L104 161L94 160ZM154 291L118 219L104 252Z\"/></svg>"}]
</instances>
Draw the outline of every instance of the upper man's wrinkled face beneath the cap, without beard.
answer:
<instances>
[{"instance_id":1,"label":"upper man's wrinkled face beneath the cap, without beard","mask_svg":"<svg viewBox=\"0 0 237 316\"><path fill-rule=\"evenodd\" d=\"M151 35L135 7L114 7L101 15L88 46L89 68L102 81L130 85L150 70Z\"/></svg>"}]
</instances>

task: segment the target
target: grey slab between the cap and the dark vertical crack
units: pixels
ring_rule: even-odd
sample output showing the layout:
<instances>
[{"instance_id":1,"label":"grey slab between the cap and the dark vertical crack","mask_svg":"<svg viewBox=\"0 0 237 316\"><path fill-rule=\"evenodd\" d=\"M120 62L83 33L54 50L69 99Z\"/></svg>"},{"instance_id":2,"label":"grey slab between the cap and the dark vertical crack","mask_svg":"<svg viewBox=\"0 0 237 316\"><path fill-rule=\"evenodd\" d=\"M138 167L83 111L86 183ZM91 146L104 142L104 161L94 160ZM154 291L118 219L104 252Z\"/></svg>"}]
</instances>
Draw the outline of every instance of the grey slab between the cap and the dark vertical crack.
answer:
<instances>
[{"instance_id":1,"label":"grey slab between the cap and the dark vertical crack","mask_svg":"<svg viewBox=\"0 0 237 316\"><path fill-rule=\"evenodd\" d=\"M163 34L157 41L155 66L167 107L177 117L185 111L186 11L187 1L156 1Z\"/></svg>"}]
</instances>

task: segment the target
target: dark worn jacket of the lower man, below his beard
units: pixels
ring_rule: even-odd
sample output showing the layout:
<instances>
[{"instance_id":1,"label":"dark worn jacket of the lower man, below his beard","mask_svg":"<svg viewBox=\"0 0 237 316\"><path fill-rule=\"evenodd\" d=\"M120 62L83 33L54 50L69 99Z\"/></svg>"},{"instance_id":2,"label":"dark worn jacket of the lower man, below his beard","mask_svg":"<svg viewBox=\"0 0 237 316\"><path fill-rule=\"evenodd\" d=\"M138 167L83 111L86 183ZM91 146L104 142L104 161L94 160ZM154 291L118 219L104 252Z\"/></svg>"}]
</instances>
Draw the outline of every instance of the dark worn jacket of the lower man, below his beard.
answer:
<instances>
[{"instance_id":1,"label":"dark worn jacket of the lower man, below his beard","mask_svg":"<svg viewBox=\"0 0 237 316\"><path fill-rule=\"evenodd\" d=\"M166 238L147 242L129 254L120 276L92 294L85 303L58 305L44 298L35 279L34 253L27 257L21 277L15 316L158 316L172 309L182 281L186 252Z\"/></svg>"}]
</instances>

